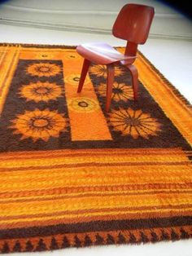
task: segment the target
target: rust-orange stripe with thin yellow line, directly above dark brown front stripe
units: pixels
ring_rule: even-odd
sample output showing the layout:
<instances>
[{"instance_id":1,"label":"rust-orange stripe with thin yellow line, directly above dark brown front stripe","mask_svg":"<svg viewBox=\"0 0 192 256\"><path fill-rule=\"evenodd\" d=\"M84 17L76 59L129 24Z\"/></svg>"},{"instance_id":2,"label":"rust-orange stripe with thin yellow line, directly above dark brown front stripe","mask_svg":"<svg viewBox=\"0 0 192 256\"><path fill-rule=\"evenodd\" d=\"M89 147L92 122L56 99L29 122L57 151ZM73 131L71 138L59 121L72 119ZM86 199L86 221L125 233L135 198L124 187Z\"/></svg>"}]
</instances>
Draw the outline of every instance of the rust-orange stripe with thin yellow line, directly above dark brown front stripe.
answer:
<instances>
[{"instance_id":1,"label":"rust-orange stripe with thin yellow line, directly above dark brown front stripe","mask_svg":"<svg viewBox=\"0 0 192 256\"><path fill-rule=\"evenodd\" d=\"M140 218L162 218L181 216L190 216L192 205L154 205L151 207L124 207L113 209L89 209L74 211L59 211L54 214L27 214L13 215L0 218L1 229L5 227L33 227L47 226L52 223L84 223L94 220L118 220L118 219L140 219ZM89 211L89 214L88 214Z\"/></svg>"}]
</instances>

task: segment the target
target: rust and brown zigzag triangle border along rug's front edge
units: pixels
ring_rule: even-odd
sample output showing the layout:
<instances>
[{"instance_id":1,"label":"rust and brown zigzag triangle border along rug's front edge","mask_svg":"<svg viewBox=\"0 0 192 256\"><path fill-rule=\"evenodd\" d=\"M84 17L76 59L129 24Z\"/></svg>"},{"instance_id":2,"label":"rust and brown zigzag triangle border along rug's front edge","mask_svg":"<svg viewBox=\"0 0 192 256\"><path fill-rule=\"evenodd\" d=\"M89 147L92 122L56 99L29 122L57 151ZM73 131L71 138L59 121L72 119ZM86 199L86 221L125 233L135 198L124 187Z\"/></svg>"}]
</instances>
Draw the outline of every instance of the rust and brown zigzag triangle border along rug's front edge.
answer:
<instances>
[{"instance_id":1,"label":"rust and brown zigzag triangle border along rug's front edge","mask_svg":"<svg viewBox=\"0 0 192 256\"><path fill-rule=\"evenodd\" d=\"M39 237L37 240L17 239L5 241L0 247L1 254L14 252L37 252L68 247L87 247L91 245L122 245L145 244L159 241L178 241L192 238L191 227L151 228L147 230L132 230L118 232L94 232L85 234L65 234Z\"/></svg>"}]
</instances>

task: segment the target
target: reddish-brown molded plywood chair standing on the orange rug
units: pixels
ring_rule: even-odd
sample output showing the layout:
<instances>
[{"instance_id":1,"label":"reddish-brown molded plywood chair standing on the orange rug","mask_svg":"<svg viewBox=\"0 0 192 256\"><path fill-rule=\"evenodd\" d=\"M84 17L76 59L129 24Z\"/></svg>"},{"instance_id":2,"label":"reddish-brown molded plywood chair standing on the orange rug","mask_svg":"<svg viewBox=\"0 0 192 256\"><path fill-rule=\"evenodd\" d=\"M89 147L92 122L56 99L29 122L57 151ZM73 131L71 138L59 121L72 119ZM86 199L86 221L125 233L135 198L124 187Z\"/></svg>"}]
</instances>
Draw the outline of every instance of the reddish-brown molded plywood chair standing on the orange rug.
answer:
<instances>
[{"instance_id":1,"label":"reddish-brown molded plywood chair standing on the orange rug","mask_svg":"<svg viewBox=\"0 0 192 256\"><path fill-rule=\"evenodd\" d=\"M91 62L107 65L107 101L106 111L111 104L112 86L114 81L115 64L124 64L130 71L133 84L133 97L137 100L138 73L133 65L137 58L137 45L144 44L148 38L151 23L155 14L154 7L139 4L126 4L117 15L112 33L116 38L127 41L124 54L116 51L104 42L86 43L77 46L76 51L85 58L81 70L77 92L81 92L85 77Z\"/></svg>"}]
</instances>

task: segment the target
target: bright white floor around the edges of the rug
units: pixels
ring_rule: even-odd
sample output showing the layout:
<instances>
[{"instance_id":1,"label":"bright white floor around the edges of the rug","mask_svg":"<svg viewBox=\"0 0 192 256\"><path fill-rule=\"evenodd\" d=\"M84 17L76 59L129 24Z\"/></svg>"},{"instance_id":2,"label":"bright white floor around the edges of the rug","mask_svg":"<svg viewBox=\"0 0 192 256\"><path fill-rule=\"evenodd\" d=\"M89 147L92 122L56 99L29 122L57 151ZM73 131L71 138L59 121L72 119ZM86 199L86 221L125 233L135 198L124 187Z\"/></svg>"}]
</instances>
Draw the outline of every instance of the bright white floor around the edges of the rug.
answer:
<instances>
[{"instance_id":1,"label":"bright white floor around the edges of the rug","mask_svg":"<svg viewBox=\"0 0 192 256\"><path fill-rule=\"evenodd\" d=\"M83 42L108 42L113 46L124 46L124 41L110 35L53 31L0 24L0 42L78 45ZM192 104L192 43L190 41L149 38L139 50L164 74L169 82L180 90ZM88 256L88 255L129 255L129 256L190 256L191 241L162 242L147 245L110 245L84 249L64 249L54 252L28 254L41 256ZM6 255L6 254L4 254ZM9 254L10 255L10 254ZM15 256L21 254L14 254ZM23 255L23 254L22 254Z\"/></svg>"}]
</instances>

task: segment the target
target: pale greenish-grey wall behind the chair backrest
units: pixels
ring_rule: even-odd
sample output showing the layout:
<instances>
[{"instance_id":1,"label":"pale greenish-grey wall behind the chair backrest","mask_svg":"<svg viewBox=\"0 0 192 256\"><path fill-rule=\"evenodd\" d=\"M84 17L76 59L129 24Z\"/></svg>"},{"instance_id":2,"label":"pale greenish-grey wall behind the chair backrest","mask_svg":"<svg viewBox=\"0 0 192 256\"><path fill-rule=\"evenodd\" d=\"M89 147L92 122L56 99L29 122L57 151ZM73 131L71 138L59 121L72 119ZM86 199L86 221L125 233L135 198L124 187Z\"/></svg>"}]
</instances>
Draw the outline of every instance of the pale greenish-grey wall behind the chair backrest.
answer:
<instances>
[{"instance_id":1,"label":"pale greenish-grey wall behind the chair backrest","mask_svg":"<svg viewBox=\"0 0 192 256\"><path fill-rule=\"evenodd\" d=\"M124 0L12 0L0 5L0 24L43 29L111 33ZM192 40L192 23L162 2L132 1L155 7L151 38ZM184 29L185 28L185 29Z\"/></svg>"}]
</instances>

